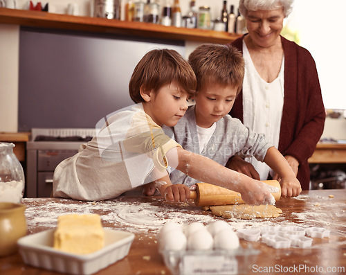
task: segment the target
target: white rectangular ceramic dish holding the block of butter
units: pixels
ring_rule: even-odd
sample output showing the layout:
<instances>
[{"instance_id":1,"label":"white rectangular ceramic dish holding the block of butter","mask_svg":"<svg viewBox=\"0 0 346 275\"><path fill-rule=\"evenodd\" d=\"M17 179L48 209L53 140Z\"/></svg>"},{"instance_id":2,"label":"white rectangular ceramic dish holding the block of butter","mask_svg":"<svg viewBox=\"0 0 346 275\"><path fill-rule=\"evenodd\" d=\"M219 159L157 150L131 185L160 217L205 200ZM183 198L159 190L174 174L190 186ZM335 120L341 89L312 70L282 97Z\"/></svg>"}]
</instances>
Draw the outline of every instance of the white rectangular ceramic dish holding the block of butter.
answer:
<instances>
[{"instance_id":1,"label":"white rectangular ceramic dish holding the block of butter","mask_svg":"<svg viewBox=\"0 0 346 275\"><path fill-rule=\"evenodd\" d=\"M127 256L134 240L133 233L104 229L102 249L91 254L77 255L53 248L54 231L42 231L18 240L19 253L24 263L69 274L93 274Z\"/></svg>"}]
</instances>

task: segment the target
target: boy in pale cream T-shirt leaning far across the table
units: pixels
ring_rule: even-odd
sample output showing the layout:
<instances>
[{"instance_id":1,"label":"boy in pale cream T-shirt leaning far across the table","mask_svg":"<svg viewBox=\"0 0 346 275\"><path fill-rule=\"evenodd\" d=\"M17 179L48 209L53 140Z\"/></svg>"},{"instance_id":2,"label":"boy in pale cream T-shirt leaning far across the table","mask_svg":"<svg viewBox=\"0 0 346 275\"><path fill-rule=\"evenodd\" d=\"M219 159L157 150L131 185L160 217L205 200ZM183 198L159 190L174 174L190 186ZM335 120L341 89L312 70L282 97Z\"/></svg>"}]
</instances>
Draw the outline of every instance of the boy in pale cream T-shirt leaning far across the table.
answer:
<instances>
[{"instance_id":1,"label":"boy in pale cream T-shirt leaning far across the table","mask_svg":"<svg viewBox=\"0 0 346 275\"><path fill-rule=\"evenodd\" d=\"M199 181L235 190L248 204L271 202L271 194L261 181L183 150L163 132L163 125L173 127L183 117L196 85L192 68L179 53L149 51L129 82L130 96L137 105L100 121L103 126L98 134L78 154L57 166L53 196L112 199L156 180L161 195L183 202L190 197L190 190L184 184L170 183L166 170L170 166Z\"/></svg>"}]
</instances>

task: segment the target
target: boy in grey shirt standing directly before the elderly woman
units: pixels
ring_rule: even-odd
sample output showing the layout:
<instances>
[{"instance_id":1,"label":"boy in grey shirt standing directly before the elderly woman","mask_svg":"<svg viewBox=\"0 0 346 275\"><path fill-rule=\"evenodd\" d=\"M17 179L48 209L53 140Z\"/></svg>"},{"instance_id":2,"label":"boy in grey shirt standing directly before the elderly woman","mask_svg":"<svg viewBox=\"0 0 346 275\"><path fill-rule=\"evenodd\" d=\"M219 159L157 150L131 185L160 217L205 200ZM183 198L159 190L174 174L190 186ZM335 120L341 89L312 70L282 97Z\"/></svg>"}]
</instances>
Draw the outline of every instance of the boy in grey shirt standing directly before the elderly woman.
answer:
<instances>
[{"instance_id":1,"label":"boy in grey shirt standing directly before the elderly woman","mask_svg":"<svg viewBox=\"0 0 346 275\"><path fill-rule=\"evenodd\" d=\"M280 175L282 196L294 197L301 188L289 163L266 139L228 113L242 89L244 59L230 45L203 44L189 56L197 77L196 104L174 127L163 127L185 150L208 157L222 166L230 157L255 157ZM179 170L170 174L172 184L192 186L198 182ZM212 184L211 182L208 182Z\"/></svg>"}]
</instances>

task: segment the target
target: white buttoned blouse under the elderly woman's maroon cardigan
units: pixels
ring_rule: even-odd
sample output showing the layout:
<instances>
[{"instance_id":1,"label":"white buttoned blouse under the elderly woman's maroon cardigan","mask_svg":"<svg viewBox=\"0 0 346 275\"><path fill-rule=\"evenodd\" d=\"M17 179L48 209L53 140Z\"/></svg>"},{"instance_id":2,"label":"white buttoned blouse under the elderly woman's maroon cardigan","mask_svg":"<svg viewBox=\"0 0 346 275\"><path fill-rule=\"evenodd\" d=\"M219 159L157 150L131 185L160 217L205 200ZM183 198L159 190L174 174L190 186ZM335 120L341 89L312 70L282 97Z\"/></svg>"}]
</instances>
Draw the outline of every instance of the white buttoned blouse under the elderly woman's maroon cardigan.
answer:
<instances>
[{"instance_id":1,"label":"white buttoned blouse under the elderly woman's maroon cardigan","mask_svg":"<svg viewBox=\"0 0 346 275\"><path fill-rule=\"evenodd\" d=\"M244 125L254 132L265 134L275 148L278 148L282 107L284 106L284 57L280 73L273 82L264 81L257 73L251 55L243 41L243 57L245 60L245 76L243 82ZM261 180L268 178L271 172L266 163L254 157L247 158L260 174Z\"/></svg>"}]
</instances>

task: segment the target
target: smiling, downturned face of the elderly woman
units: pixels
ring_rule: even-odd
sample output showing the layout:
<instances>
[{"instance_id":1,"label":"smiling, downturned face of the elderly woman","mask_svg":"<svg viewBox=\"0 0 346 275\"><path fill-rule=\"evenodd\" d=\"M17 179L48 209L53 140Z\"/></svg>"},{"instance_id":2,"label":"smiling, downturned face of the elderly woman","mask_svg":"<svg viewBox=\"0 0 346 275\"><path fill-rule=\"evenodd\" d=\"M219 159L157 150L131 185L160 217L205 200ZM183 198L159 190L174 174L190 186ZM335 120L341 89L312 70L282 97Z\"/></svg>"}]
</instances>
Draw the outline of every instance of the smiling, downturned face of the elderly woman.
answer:
<instances>
[{"instance_id":1,"label":"smiling, downturned face of the elderly woman","mask_svg":"<svg viewBox=\"0 0 346 275\"><path fill-rule=\"evenodd\" d=\"M248 10L246 26L248 33L257 46L273 46L280 35L284 24L284 9Z\"/></svg>"}]
</instances>

